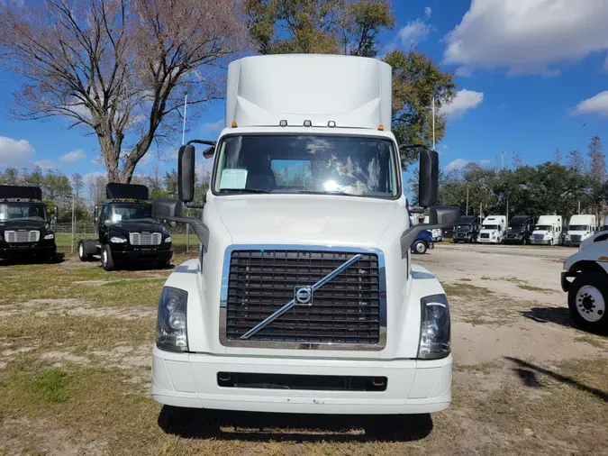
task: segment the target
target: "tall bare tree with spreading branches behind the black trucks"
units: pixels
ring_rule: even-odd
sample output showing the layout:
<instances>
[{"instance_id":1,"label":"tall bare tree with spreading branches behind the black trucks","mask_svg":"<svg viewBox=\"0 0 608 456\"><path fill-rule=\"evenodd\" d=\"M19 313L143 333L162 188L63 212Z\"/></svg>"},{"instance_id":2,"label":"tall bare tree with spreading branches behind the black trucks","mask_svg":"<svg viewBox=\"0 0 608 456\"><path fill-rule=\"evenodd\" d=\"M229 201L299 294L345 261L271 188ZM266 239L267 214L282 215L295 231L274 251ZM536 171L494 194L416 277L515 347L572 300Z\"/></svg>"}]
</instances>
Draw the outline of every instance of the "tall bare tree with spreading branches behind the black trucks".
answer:
<instances>
[{"instance_id":1,"label":"tall bare tree with spreading branches behind the black trucks","mask_svg":"<svg viewBox=\"0 0 608 456\"><path fill-rule=\"evenodd\" d=\"M22 79L14 115L84 125L108 180L130 182L186 93L189 115L220 96L225 58L246 46L240 18L239 0L0 2L2 62Z\"/></svg>"}]
</instances>

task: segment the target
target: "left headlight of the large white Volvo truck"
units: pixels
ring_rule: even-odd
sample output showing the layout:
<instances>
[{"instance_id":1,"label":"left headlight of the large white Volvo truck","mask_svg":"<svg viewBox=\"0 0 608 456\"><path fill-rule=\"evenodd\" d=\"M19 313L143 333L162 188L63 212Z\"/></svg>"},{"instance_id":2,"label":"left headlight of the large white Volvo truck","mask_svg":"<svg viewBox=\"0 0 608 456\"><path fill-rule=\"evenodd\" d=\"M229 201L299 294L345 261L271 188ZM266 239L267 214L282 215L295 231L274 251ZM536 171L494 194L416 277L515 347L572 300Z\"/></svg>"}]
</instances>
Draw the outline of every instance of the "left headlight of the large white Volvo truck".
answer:
<instances>
[{"instance_id":1,"label":"left headlight of the large white Volvo truck","mask_svg":"<svg viewBox=\"0 0 608 456\"><path fill-rule=\"evenodd\" d=\"M156 326L156 344L161 350L187 351L186 333L187 291L163 287L159 300L159 316Z\"/></svg>"}]
</instances>

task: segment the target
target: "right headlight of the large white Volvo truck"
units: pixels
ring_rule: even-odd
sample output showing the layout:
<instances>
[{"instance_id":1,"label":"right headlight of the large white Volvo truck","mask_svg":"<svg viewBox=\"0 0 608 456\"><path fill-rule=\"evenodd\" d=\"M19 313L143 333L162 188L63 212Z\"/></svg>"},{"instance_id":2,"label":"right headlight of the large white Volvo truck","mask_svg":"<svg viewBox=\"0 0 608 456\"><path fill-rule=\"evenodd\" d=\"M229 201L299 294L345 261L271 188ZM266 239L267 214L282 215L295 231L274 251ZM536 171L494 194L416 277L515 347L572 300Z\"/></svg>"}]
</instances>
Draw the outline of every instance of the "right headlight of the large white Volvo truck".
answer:
<instances>
[{"instance_id":1,"label":"right headlight of the large white Volvo truck","mask_svg":"<svg viewBox=\"0 0 608 456\"><path fill-rule=\"evenodd\" d=\"M449 306L445 295L422 297L418 358L437 360L450 352Z\"/></svg>"}]
</instances>

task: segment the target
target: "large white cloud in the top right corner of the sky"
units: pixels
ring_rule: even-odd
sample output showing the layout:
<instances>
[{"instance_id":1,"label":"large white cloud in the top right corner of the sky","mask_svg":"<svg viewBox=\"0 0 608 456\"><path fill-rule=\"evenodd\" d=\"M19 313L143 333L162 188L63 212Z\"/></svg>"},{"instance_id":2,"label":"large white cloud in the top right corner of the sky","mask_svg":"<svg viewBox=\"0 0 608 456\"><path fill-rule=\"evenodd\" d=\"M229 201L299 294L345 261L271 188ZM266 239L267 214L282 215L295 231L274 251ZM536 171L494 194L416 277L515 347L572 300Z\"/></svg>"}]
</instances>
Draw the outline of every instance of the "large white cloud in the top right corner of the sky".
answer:
<instances>
[{"instance_id":1,"label":"large white cloud in the top right corner of the sky","mask_svg":"<svg viewBox=\"0 0 608 456\"><path fill-rule=\"evenodd\" d=\"M473 0L446 36L445 62L554 76L549 66L608 50L605 0Z\"/></svg>"}]
</instances>

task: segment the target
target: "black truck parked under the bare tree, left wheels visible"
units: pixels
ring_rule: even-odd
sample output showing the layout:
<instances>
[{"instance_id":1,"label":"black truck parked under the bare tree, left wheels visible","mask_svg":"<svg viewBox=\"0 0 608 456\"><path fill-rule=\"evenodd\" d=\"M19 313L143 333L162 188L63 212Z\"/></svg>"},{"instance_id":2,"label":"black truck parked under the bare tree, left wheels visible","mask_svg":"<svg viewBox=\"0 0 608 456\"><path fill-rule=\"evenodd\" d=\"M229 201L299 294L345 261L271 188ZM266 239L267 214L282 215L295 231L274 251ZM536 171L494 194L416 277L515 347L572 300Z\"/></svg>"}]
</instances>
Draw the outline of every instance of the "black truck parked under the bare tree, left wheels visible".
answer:
<instances>
[{"instance_id":1,"label":"black truck parked under the bare tree, left wheels visible","mask_svg":"<svg viewBox=\"0 0 608 456\"><path fill-rule=\"evenodd\" d=\"M78 242L80 260L99 258L105 270L136 262L168 267L171 235L152 217L148 187L108 184L105 193L108 201L95 206L98 239Z\"/></svg>"}]
</instances>

